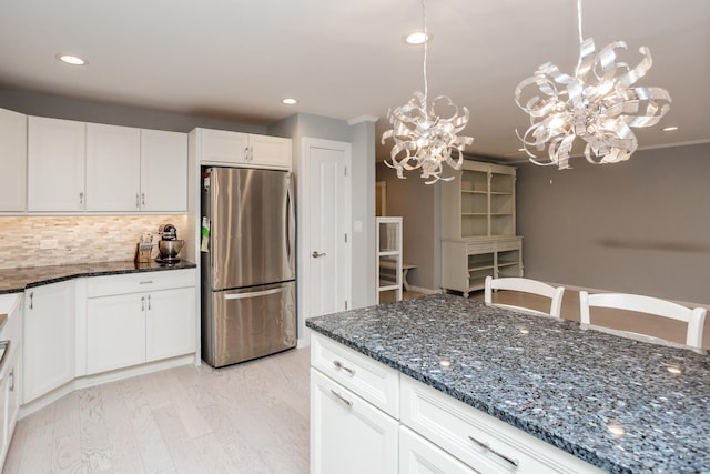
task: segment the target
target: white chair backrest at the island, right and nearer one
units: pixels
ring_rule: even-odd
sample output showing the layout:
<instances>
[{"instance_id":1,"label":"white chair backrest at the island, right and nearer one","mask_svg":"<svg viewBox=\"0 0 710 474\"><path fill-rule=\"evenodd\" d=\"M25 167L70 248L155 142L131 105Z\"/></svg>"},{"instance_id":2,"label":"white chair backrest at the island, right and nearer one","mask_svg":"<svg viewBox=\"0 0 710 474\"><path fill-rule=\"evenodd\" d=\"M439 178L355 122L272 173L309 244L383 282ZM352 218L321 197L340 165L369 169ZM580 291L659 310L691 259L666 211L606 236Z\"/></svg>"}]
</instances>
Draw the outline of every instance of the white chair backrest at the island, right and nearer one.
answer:
<instances>
[{"instance_id":1,"label":"white chair backrest at the island, right and nearer one","mask_svg":"<svg viewBox=\"0 0 710 474\"><path fill-rule=\"evenodd\" d=\"M638 313L653 314L682 321L688 324L686 332L686 345L700 349L702 345L702 330L706 322L707 310L703 307L690 309L678 303L652 296L627 293L597 293L579 292L579 312L582 327L591 325L589 307L609 307L617 310L635 311ZM629 334L638 334L628 331ZM655 337L658 339L658 337Z\"/></svg>"}]
</instances>

